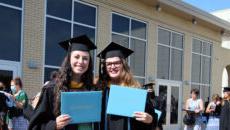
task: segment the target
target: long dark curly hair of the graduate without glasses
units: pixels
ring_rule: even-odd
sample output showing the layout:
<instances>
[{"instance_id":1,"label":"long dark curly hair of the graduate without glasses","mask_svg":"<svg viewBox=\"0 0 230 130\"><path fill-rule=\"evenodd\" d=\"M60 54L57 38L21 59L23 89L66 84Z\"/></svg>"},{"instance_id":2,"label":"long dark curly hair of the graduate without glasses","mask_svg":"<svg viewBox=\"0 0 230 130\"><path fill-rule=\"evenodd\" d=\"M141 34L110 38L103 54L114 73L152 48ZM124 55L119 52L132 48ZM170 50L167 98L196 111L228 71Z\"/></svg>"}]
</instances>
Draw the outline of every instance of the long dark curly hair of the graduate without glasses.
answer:
<instances>
[{"instance_id":1,"label":"long dark curly hair of the graduate without glasses","mask_svg":"<svg viewBox=\"0 0 230 130\"><path fill-rule=\"evenodd\" d=\"M71 69L70 64L70 55L71 52L67 54L67 56L64 58L64 61L61 65L61 68L58 71L57 78L56 78L56 86L54 91L54 96L56 97L54 102L54 113L56 116L60 115L60 95L61 92L69 91L70 89L70 82L73 75L73 71ZM93 85L93 64L92 64L92 58L90 57L89 66L87 71L81 76L81 82L83 83L83 86L86 87L87 90L91 89L91 86Z\"/></svg>"}]
</instances>

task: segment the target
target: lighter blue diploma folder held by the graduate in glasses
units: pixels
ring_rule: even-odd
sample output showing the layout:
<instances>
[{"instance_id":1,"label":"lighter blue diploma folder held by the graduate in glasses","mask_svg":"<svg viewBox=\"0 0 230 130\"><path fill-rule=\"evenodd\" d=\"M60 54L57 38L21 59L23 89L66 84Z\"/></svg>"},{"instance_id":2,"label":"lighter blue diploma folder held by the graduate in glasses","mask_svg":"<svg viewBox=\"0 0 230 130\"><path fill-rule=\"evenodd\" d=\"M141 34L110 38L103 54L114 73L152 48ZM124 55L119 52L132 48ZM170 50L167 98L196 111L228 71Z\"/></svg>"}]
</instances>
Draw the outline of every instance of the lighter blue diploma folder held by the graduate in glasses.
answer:
<instances>
[{"instance_id":1,"label":"lighter blue diploma folder held by the graduate in glasses","mask_svg":"<svg viewBox=\"0 0 230 130\"><path fill-rule=\"evenodd\" d=\"M107 114L133 117L134 112L144 112L147 90L111 85Z\"/></svg>"}]
</instances>

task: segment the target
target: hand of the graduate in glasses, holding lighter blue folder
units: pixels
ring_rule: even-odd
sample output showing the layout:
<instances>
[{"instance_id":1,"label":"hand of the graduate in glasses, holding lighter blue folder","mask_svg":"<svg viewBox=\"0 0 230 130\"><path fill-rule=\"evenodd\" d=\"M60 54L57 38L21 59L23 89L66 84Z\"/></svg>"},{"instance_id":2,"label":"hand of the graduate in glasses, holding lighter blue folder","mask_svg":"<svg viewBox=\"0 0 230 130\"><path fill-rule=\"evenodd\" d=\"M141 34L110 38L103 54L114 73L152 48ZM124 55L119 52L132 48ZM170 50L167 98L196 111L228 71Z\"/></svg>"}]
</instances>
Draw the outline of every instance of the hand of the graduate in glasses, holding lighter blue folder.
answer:
<instances>
[{"instance_id":1,"label":"hand of the graduate in glasses, holding lighter blue folder","mask_svg":"<svg viewBox=\"0 0 230 130\"><path fill-rule=\"evenodd\" d=\"M153 121L153 117L146 112L134 112L134 117L137 121L141 121L146 124L150 124Z\"/></svg>"}]
</instances>

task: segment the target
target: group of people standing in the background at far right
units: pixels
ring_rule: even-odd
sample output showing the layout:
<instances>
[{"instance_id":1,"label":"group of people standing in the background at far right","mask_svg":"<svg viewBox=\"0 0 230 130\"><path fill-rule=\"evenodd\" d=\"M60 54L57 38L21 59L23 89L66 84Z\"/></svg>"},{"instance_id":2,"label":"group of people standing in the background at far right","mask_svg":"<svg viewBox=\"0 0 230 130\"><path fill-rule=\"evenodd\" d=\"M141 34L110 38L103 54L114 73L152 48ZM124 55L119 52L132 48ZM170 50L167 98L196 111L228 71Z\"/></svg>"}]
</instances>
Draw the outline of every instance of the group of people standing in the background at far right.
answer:
<instances>
[{"instance_id":1,"label":"group of people standing in the background at far right","mask_svg":"<svg viewBox=\"0 0 230 130\"><path fill-rule=\"evenodd\" d=\"M184 109L184 130L230 130L230 87L225 87L223 93L223 98L213 94L205 105L198 98L199 90L192 89Z\"/></svg>"}]
</instances>

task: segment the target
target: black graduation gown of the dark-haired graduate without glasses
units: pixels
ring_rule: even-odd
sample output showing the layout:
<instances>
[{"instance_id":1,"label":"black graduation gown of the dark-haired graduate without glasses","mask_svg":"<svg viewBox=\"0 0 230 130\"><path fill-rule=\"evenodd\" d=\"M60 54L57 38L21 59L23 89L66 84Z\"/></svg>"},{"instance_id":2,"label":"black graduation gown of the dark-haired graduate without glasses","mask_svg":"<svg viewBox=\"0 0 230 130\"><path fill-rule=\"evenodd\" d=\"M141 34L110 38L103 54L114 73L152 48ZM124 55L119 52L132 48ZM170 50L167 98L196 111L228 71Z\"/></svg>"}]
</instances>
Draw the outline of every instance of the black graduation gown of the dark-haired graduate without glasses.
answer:
<instances>
[{"instance_id":1,"label":"black graduation gown of the dark-haired graduate without glasses","mask_svg":"<svg viewBox=\"0 0 230 130\"><path fill-rule=\"evenodd\" d=\"M55 83L45 86L37 107L31 117L28 130L55 130L56 116L54 114L54 87ZM98 126L97 123L94 123ZM95 128L95 127L94 127ZM77 125L67 125L65 130L77 130ZM96 130L97 128L95 128Z\"/></svg>"}]
</instances>

